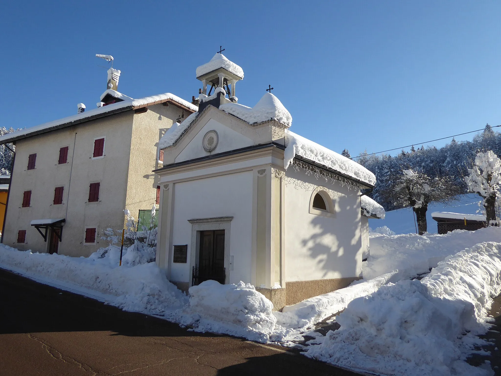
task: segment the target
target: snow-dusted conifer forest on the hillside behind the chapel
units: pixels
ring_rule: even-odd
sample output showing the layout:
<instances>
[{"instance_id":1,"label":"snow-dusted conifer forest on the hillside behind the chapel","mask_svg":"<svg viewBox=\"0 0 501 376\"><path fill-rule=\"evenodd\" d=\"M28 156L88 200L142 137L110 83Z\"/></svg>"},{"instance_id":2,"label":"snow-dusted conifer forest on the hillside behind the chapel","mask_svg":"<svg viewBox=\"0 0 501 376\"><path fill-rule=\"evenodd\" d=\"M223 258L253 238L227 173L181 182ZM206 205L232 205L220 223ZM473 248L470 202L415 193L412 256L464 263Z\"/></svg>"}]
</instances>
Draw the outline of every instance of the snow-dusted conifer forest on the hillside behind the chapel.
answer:
<instances>
[{"instance_id":1,"label":"snow-dusted conifer forest on the hillside behind the chapel","mask_svg":"<svg viewBox=\"0 0 501 376\"><path fill-rule=\"evenodd\" d=\"M492 150L494 154L501 155L501 133L492 130L486 125L482 133L473 137L472 141L452 141L440 149L432 146L411 148L409 152L402 150L398 155L391 156L359 154L357 162L372 171L377 178L372 196L386 211L403 208L391 196L395 179L402 175L403 170L422 172L430 177L450 176L462 193L468 189L464 177L468 176L468 168L472 167L478 151ZM344 150L343 154L348 153ZM348 153L349 155L349 153Z\"/></svg>"}]
</instances>

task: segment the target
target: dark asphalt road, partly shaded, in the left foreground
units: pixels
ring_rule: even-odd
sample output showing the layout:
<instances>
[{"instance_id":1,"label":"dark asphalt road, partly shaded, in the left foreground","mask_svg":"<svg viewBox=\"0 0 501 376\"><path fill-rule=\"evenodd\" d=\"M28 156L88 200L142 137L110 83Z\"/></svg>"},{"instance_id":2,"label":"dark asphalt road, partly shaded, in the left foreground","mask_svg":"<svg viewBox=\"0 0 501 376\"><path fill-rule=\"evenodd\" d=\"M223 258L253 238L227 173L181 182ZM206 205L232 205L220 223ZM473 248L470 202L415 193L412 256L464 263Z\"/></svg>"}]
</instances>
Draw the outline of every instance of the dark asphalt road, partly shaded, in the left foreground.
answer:
<instances>
[{"instance_id":1,"label":"dark asphalt road, partly shaded, in the left foreground","mask_svg":"<svg viewBox=\"0 0 501 376\"><path fill-rule=\"evenodd\" d=\"M357 375L279 346L187 331L0 269L0 375Z\"/></svg>"}]
</instances>

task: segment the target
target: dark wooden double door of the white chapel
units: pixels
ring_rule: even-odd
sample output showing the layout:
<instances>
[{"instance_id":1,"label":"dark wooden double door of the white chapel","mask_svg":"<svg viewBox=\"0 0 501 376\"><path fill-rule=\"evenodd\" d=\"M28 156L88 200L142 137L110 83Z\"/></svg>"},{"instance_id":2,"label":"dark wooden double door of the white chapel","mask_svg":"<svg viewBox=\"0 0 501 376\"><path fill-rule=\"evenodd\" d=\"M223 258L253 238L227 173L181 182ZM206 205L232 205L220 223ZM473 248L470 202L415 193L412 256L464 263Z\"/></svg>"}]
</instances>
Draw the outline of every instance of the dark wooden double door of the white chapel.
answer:
<instances>
[{"instance_id":1,"label":"dark wooden double door of the white chapel","mask_svg":"<svg viewBox=\"0 0 501 376\"><path fill-rule=\"evenodd\" d=\"M200 231L198 283L212 279L224 284L224 230Z\"/></svg>"}]
</instances>

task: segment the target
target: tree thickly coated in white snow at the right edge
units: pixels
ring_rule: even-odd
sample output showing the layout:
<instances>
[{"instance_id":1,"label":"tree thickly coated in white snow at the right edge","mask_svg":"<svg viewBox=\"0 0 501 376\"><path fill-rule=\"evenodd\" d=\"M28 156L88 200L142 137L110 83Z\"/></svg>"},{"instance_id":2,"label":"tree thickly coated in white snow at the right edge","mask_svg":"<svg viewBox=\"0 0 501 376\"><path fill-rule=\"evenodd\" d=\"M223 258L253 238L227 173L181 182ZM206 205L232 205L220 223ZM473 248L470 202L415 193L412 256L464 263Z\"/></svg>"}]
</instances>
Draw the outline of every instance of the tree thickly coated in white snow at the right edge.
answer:
<instances>
[{"instance_id":1,"label":"tree thickly coated in white snow at the right edge","mask_svg":"<svg viewBox=\"0 0 501 376\"><path fill-rule=\"evenodd\" d=\"M478 152L469 176L464 177L469 192L483 198L485 217L489 226L498 226L496 218L496 198L499 197L501 183L501 161L491 150Z\"/></svg>"}]
</instances>

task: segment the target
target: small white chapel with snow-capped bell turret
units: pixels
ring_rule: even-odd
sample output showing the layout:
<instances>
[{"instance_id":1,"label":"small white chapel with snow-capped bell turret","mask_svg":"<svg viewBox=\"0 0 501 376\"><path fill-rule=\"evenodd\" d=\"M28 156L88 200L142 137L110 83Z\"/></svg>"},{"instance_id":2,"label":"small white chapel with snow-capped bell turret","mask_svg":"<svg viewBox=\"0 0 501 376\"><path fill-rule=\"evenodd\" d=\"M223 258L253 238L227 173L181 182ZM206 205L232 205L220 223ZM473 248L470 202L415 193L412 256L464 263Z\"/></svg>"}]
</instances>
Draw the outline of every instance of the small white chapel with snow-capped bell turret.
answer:
<instances>
[{"instance_id":1,"label":"small white chapel with snow-capped bell turret","mask_svg":"<svg viewBox=\"0 0 501 376\"><path fill-rule=\"evenodd\" d=\"M198 111L159 142L156 262L167 278L182 290L250 282L275 309L361 278L361 190L374 174L290 131L271 92L239 104L243 70L222 54L196 78Z\"/></svg>"}]
</instances>

